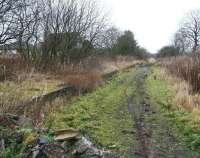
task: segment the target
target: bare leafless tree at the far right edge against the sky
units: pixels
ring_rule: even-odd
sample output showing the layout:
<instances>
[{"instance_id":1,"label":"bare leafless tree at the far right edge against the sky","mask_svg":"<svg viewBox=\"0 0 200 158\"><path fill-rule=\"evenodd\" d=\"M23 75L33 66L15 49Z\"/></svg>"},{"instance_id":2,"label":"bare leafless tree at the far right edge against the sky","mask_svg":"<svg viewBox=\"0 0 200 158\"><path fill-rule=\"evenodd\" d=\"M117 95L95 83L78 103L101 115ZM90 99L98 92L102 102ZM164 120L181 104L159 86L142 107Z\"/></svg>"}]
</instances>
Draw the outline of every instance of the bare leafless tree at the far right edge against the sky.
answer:
<instances>
[{"instance_id":1,"label":"bare leafless tree at the far right edge against the sky","mask_svg":"<svg viewBox=\"0 0 200 158\"><path fill-rule=\"evenodd\" d=\"M200 46L200 10L190 12L181 24L179 33L190 43L193 52Z\"/></svg>"}]
</instances>

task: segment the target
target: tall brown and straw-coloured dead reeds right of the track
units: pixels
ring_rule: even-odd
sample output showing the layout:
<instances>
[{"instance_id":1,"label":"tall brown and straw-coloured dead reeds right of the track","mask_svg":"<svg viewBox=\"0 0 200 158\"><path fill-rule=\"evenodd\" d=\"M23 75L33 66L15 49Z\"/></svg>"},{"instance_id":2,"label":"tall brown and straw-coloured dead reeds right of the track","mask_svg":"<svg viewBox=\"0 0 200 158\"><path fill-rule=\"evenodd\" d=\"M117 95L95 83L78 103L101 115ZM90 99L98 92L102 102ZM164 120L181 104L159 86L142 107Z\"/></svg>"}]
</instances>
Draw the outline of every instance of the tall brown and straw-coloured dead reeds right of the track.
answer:
<instances>
[{"instance_id":1,"label":"tall brown and straw-coloured dead reeds right of the track","mask_svg":"<svg viewBox=\"0 0 200 158\"><path fill-rule=\"evenodd\" d=\"M200 108L200 62L198 58L182 56L163 59L161 79L168 80L175 91L174 101L189 112Z\"/></svg>"}]
</instances>

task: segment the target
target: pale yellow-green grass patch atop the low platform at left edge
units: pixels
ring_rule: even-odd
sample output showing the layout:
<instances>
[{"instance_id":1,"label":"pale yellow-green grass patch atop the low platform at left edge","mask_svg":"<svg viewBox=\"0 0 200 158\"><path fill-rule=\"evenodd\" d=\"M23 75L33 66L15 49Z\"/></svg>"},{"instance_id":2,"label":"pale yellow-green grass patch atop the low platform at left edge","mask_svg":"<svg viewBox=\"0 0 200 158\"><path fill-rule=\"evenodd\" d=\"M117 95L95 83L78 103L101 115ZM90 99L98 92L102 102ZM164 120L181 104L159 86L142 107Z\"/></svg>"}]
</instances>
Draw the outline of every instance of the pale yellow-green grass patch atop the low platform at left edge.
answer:
<instances>
[{"instance_id":1,"label":"pale yellow-green grass patch atop the low platform at left edge","mask_svg":"<svg viewBox=\"0 0 200 158\"><path fill-rule=\"evenodd\" d=\"M0 113L14 112L15 106L58 89L60 83L46 76L32 76L22 82L0 82Z\"/></svg>"}]
</instances>

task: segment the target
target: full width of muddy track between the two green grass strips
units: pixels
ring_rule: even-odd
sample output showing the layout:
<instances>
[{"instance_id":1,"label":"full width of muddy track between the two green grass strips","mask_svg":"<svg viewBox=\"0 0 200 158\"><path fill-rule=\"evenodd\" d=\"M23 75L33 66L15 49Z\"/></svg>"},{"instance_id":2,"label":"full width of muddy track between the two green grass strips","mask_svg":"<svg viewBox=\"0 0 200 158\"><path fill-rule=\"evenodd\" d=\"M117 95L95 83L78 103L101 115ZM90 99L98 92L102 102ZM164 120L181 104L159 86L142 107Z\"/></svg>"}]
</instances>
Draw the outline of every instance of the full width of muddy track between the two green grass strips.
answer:
<instances>
[{"instance_id":1,"label":"full width of muddy track between the two green grass strips","mask_svg":"<svg viewBox=\"0 0 200 158\"><path fill-rule=\"evenodd\" d=\"M128 110L136 128L137 144L130 149L130 158L197 158L181 145L173 135L169 123L159 109L149 102L145 79L151 73L150 66L138 68L133 82L136 92L127 96Z\"/></svg>"}]
</instances>

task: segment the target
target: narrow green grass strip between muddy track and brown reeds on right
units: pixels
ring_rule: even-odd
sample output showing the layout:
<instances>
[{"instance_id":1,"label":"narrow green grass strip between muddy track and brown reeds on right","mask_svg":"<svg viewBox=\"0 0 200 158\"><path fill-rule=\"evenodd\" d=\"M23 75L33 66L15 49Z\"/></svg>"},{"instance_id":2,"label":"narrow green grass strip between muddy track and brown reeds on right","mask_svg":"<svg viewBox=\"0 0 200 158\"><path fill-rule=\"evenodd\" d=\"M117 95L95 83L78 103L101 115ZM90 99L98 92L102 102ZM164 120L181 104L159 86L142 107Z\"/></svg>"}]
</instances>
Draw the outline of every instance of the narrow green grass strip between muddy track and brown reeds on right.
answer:
<instances>
[{"instance_id":1,"label":"narrow green grass strip between muddy track and brown reeds on right","mask_svg":"<svg viewBox=\"0 0 200 158\"><path fill-rule=\"evenodd\" d=\"M159 108L161 114L169 120L173 134L188 148L200 153L200 131L191 124L191 114L175 106L173 88L167 81L159 79L160 69L154 67L152 71L146 81L151 104Z\"/></svg>"}]
</instances>

